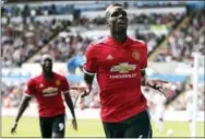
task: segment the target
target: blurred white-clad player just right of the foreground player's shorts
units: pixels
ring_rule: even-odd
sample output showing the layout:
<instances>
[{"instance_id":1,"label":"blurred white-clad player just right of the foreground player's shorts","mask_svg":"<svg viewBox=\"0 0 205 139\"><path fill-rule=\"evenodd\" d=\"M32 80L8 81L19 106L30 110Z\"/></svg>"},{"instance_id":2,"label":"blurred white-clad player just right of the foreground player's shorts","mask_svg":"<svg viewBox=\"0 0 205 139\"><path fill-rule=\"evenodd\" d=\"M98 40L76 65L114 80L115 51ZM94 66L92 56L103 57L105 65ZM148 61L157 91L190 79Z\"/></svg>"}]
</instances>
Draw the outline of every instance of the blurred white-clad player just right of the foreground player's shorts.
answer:
<instances>
[{"instance_id":1,"label":"blurred white-clad player just right of the foreground player's shorts","mask_svg":"<svg viewBox=\"0 0 205 139\"><path fill-rule=\"evenodd\" d=\"M159 132L164 130L164 113L166 111L166 97L161 93L154 95L155 115L156 115L156 127Z\"/></svg>"}]
</instances>

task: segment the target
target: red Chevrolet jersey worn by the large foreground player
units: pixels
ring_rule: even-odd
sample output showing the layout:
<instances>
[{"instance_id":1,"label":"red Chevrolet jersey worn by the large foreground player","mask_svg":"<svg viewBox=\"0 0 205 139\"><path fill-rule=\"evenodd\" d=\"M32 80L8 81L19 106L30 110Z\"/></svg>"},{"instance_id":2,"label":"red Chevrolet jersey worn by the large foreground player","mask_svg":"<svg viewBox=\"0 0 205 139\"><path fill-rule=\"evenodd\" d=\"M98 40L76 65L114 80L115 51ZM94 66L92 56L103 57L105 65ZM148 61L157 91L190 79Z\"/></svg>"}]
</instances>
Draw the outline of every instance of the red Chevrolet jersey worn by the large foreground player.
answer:
<instances>
[{"instance_id":1,"label":"red Chevrolet jersey worn by the large foreground player","mask_svg":"<svg viewBox=\"0 0 205 139\"><path fill-rule=\"evenodd\" d=\"M120 44L106 37L92 43L85 53L84 71L96 73L102 121L121 121L146 109L141 92L141 70L147 66L147 47L128 38Z\"/></svg>"}]
</instances>

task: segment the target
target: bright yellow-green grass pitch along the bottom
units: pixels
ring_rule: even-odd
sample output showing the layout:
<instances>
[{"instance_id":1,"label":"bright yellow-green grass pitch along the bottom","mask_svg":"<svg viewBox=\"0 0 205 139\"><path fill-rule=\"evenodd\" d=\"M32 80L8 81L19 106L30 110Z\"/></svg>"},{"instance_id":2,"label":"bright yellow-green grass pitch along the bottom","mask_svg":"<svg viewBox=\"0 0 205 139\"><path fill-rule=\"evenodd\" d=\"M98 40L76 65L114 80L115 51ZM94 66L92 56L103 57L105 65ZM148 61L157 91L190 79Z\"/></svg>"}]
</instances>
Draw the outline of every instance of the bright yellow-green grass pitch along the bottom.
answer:
<instances>
[{"instance_id":1,"label":"bright yellow-green grass pitch along the bottom","mask_svg":"<svg viewBox=\"0 0 205 139\"><path fill-rule=\"evenodd\" d=\"M22 117L15 135L10 134L14 117L1 117L2 137L40 137L37 117ZM105 137L101 121L99 119L77 119L79 130L72 129L71 121L67 121L65 137ZM205 124L197 123L197 137L205 137ZM164 131L158 132L153 123L154 137L167 137L167 130L173 130L173 137L190 137L189 124L186 121L166 121Z\"/></svg>"}]
</instances>

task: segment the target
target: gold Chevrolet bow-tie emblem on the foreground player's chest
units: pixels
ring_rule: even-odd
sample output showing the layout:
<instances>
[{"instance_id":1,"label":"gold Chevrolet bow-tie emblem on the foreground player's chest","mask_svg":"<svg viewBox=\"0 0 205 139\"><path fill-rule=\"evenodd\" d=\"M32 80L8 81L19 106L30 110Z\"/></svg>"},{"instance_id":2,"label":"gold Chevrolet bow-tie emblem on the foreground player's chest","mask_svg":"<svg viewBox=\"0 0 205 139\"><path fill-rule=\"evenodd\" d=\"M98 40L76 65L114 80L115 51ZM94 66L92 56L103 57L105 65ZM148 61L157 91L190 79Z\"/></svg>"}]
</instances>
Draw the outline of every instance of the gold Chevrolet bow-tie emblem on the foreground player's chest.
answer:
<instances>
[{"instance_id":1,"label":"gold Chevrolet bow-tie emblem on the foreground player's chest","mask_svg":"<svg viewBox=\"0 0 205 139\"><path fill-rule=\"evenodd\" d=\"M118 66L111 67L110 71L111 72L120 72L120 73L128 73L131 70L135 70L136 65L129 65L128 62L121 62Z\"/></svg>"}]
</instances>

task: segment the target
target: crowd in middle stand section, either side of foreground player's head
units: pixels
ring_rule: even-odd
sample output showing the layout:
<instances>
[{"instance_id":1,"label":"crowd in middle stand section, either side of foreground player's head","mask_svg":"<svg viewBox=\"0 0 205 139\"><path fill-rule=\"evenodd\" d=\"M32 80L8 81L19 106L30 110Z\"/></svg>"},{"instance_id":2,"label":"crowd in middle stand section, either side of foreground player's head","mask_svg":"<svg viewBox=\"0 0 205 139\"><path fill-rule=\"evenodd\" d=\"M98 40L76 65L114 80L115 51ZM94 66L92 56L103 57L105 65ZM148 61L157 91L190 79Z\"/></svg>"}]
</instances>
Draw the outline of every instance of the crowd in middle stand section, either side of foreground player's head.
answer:
<instances>
[{"instance_id":1,"label":"crowd in middle stand section, either side of foreground player's head","mask_svg":"<svg viewBox=\"0 0 205 139\"><path fill-rule=\"evenodd\" d=\"M144 20L144 22L142 22L142 20L135 20L135 19L142 19L145 18L146 20ZM183 13L178 13L178 14L140 14L140 15L133 15L131 19L131 25L133 24L138 24L138 25L147 25L148 27L150 27L150 25L166 25L168 26L168 32L170 32L169 28L171 28L173 25L176 25L179 22L179 16L180 19L182 19L184 16ZM167 20L166 20L167 18ZM154 22L155 21L155 22ZM81 25L81 27L83 27L83 32L86 33L88 30L91 30L91 26L96 26L99 27L99 25L106 27L106 19L105 18L95 18L94 20L88 20L88 18L82 18L80 19L80 22L77 25ZM62 32L59 32L57 35L57 37L55 39L52 39L51 42L49 42L49 44L47 46L45 46L44 50L41 50L39 54L35 55L35 61L38 61L39 57L43 54L50 54L53 56L53 58L56 59L56 61L67 61L70 57L76 55L77 53L83 53L85 48L88 46L88 44L93 40L96 39L95 37L91 37L91 36L85 36L82 35L81 32L73 32L71 31L71 28L75 28L77 26L68 26L67 28L64 28ZM95 27L94 27L95 28ZM147 43L147 47L148 47L148 51L152 53L157 45L165 38L166 34L162 35L158 35L157 32L153 32L150 31L150 28L148 28L148 32L135 32L135 38L137 39L143 39ZM95 30L94 30L95 31ZM96 30L97 31L97 30ZM97 31L102 32L101 31ZM60 35L62 33L67 33L68 35ZM98 38L100 38L101 36L99 36Z\"/></svg>"}]
</instances>

